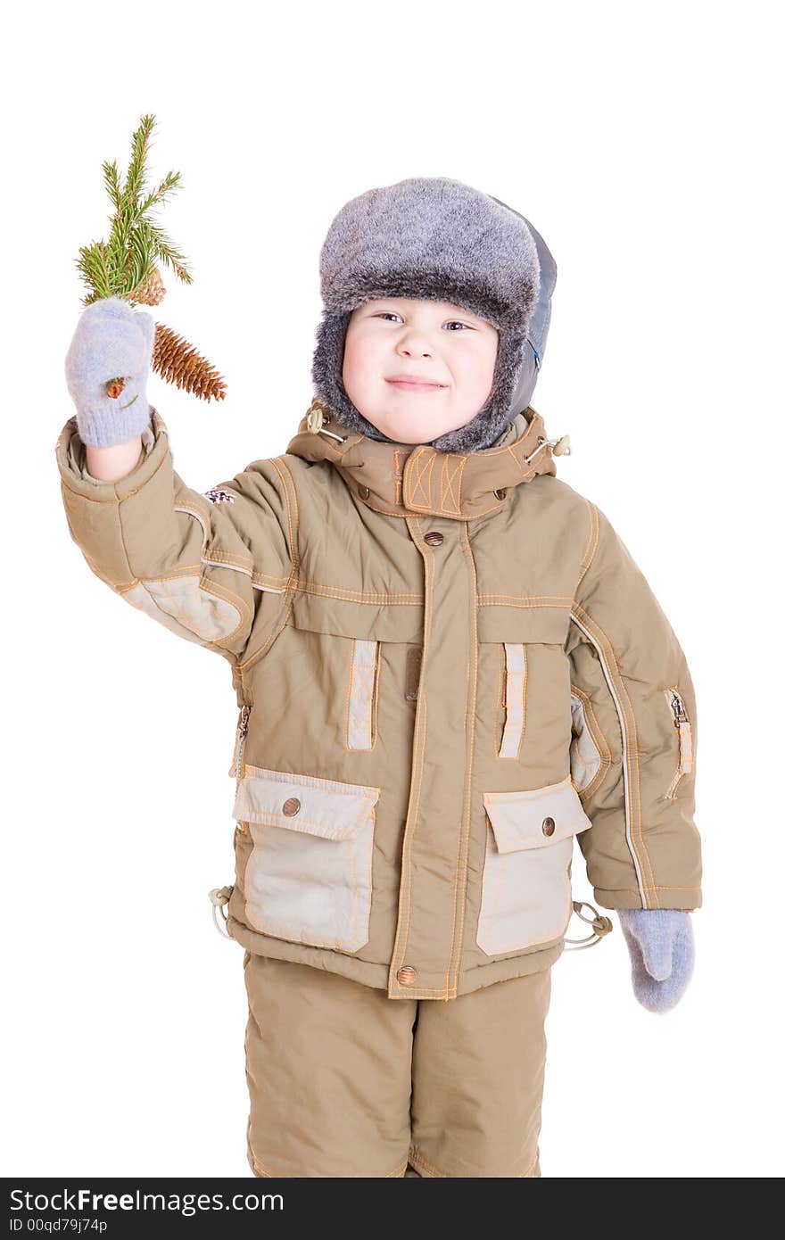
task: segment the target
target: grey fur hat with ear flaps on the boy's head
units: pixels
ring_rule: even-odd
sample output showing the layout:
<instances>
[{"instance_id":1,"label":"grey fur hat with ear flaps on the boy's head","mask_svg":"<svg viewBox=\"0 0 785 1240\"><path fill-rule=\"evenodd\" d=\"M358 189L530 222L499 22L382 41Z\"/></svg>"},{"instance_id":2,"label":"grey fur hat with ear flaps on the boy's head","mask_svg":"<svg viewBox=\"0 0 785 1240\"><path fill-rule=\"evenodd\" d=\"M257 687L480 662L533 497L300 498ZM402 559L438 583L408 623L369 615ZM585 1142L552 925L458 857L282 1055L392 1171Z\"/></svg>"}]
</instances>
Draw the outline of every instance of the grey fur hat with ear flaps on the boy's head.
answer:
<instances>
[{"instance_id":1,"label":"grey fur hat with ear flaps on the boy's head","mask_svg":"<svg viewBox=\"0 0 785 1240\"><path fill-rule=\"evenodd\" d=\"M451 301L499 330L491 394L465 427L433 440L438 451L486 448L528 407L551 322L556 263L536 228L500 198L443 176L367 190L330 224L320 275L313 386L350 430L387 439L355 408L342 382L351 311L372 298Z\"/></svg>"}]
</instances>

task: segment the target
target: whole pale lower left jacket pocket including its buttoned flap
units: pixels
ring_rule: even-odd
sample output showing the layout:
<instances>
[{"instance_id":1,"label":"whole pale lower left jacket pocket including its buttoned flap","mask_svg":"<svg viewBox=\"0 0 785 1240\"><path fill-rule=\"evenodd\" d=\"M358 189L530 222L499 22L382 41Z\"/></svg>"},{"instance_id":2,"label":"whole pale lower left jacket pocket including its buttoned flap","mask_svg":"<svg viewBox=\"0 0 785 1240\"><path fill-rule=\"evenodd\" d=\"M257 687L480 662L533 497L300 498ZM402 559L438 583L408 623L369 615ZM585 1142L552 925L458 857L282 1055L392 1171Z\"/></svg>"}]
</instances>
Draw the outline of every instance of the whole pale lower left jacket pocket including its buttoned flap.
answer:
<instances>
[{"instance_id":1,"label":"whole pale lower left jacket pocket including its buttoned flap","mask_svg":"<svg viewBox=\"0 0 785 1240\"><path fill-rule=\"evenodd\" d=\"M253 847L246 920L277 939L357 951L368 941L378 787L246 764L234 817Z\"/></svg>"}]
</instances>

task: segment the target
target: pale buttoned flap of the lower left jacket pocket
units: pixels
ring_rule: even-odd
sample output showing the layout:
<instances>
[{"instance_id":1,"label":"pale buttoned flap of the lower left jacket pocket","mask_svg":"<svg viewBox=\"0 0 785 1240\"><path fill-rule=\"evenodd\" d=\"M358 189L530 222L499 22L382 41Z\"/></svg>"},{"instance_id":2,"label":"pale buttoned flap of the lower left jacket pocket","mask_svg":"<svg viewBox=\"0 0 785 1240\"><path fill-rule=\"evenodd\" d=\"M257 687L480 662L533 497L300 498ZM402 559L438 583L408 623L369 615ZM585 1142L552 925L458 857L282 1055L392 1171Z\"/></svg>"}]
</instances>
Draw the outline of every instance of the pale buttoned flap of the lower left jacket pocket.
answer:
<instances>
[{"instance_id":1,"label":"pale buttoned flap of the lower left jacket pocket","mask_svg":"<svg viewBox=\"0 0 785 1240\"><path fill-rule=\"evenodd\" d=\"M238 822L267 822L325 839L347 839L367 825L379 791L246 764L232 812Z\"/></svg>"}]
</instances>

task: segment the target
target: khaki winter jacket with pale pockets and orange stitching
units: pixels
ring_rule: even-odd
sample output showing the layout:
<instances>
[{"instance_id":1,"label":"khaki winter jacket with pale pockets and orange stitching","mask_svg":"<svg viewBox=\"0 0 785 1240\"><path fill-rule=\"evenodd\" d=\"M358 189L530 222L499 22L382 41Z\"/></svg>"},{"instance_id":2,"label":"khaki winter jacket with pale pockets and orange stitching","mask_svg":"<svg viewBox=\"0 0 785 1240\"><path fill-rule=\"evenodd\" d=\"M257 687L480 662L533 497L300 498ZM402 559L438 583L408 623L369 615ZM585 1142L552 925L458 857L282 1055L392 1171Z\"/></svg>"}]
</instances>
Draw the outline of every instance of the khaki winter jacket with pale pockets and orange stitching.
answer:
<instances>
[{"instance_id":1,"label":"khaki winter jacket with pale pockets and orange stitching","mask_svg":"<svg viewBox=\"0 0 785 1240\"><path fill-rule=\"evenodd\" d=\"M227 925L249 951L391 998L547 968L575 836L598 904L701 905L685 655L532 408L464 455L314 401L284 454L205 494L155 409L117 482L74 418L56 454L93 572L232 666Z\"/></svg>"}]
</instances>

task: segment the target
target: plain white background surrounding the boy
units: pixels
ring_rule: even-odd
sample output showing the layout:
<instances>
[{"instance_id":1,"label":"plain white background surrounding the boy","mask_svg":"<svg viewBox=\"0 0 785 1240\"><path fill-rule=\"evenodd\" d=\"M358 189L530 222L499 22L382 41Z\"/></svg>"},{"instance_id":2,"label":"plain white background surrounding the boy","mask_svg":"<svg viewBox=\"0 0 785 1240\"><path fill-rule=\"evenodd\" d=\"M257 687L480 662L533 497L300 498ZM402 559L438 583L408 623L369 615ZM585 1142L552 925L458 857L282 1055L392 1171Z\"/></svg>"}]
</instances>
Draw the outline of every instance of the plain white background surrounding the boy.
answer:
<instances>
[{"instance_id":1,"label":"plain white background surrounding the boy","mask_svg":"<svg viewBox=\"0 0 785 1240\"><path fill-rule=\"evenodd\" d=\"M242 950L207 899L233 879L231 668L91 573L55 465L73 260L108 233L100 162L125 170L148 112L151 176L182 172L160 218L195 275L157 314L228 381L207 405L150 379L197 490L296 432L319 248L350 197L453 176L543 234L558 284L533 405L687 655L704 906L667 1016L637 1006L613 913L554 968L542 1173L781 1173L775 12L224 0L6 21L5 1174L251 1174ZM578 851L574 873L590 898Z\"/></svg>"}]
</instances>

